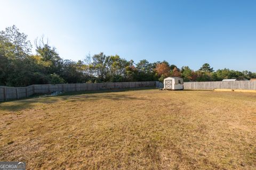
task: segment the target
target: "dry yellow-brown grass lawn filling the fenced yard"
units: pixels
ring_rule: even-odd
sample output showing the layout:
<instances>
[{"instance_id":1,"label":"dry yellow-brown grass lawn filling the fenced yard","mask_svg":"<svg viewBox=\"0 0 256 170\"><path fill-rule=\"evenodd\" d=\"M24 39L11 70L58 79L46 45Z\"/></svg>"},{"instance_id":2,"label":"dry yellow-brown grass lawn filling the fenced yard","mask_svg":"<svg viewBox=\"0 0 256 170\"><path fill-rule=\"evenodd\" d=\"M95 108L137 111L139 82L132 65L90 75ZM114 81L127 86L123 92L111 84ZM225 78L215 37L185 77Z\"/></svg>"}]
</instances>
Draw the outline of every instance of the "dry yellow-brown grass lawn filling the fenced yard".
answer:
<instances>
[{"instance_id":1,"label":"dry yellow-brown grass lawn filling the fenced yard","mask_svg":"<svg viewBox=\"0 0 256 170\"><path fill-rule=\"evenodd\" d=\"M156 89L0 103L27 169L255 169L256 94Z\"/></svg>"}]
</instances>

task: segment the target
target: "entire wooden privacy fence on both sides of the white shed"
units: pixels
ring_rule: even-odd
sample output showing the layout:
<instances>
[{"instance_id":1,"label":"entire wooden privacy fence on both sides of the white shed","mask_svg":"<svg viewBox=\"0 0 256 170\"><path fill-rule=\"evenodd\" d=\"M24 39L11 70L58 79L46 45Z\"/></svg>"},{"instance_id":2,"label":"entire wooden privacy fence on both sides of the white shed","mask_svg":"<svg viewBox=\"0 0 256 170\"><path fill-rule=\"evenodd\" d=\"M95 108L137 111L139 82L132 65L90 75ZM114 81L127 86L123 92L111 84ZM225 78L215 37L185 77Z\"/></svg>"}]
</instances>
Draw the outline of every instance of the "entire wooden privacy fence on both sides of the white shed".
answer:
<instances>
[{"instance_id":1,"label":"entire wooden privacy fence on both sides of the white shed","mask_svg":"<svg viewBox=\"0 0 256 170\"><path fill-rule=\"evenodd\" d=\"M38 84L27 87L0 86L0 101L26 98L34 94L49 94L54 91L86 91L139 87L158 87L163 83L158 81L144 82L115 82L115 83L76 83L76 84ZM256 81L209 81L184 82L184 89L213 90L213 89L243 89L256 90Z\"/></svg>"}]
</instances>

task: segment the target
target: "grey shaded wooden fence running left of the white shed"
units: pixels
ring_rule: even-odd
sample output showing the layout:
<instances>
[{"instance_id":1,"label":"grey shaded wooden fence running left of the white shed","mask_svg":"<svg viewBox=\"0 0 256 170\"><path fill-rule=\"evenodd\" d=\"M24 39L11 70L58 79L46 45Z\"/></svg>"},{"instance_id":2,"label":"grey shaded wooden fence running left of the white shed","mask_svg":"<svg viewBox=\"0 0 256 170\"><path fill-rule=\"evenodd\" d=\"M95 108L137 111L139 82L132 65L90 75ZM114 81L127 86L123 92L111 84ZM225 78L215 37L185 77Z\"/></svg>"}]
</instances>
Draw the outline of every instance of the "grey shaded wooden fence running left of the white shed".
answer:
<instances>
[{"instance_id":1,"label":"grey shaded wooden fence running left of the white shed","mask_svg":"<svg viewBox=\"0 0 256 170\"><path fill-rule=\"evenodd\" d=\"M76 83L76 84L38 84L27 87L0 86L0 101L26 98L34 94L49 94L54 91L86 91L139 87L155 87L155 81L111 82L111 83Z\"/></svg>"}]
</instances>

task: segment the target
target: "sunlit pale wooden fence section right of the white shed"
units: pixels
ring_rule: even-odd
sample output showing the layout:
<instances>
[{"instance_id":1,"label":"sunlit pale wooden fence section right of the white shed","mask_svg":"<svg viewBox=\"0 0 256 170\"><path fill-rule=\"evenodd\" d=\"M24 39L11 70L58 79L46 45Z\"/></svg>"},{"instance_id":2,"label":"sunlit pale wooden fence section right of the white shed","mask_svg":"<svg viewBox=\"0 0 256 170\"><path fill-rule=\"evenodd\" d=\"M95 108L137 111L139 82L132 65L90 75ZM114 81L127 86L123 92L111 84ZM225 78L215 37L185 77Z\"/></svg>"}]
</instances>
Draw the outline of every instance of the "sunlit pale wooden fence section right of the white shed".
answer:
<instances>
[{"instance_id":1,"label":"sunlit pale wooden fence section right of the white shed","mask_svg":"<svg viewBox=\"0 0 256 170\"><path fill-rule=\"evenodd\" d=\"M256 90L256 81L185 82L184 89L191 89L191 90L213 90L213 89Z\"/></svg>"}]
</instances>

